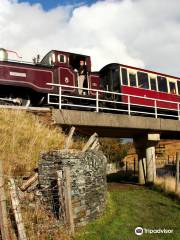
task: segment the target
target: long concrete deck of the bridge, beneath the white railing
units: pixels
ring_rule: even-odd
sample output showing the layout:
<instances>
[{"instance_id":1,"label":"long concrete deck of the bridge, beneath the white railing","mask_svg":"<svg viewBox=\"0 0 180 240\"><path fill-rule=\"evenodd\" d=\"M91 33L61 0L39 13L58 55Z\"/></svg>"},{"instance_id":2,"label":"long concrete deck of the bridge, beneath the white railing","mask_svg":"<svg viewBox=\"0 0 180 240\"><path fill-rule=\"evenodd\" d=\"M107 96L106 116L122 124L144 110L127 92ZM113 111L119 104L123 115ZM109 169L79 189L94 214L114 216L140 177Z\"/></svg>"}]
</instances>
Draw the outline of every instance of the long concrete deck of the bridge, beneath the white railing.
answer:
<instances>
[{"instance_id":1,"label":"long concrete deck of the bridge, beneath the white railing","mask_svg":"<svg viewBox=\"0 0 180 240\"><path fill-rule=\"evenodd\" d=\"M79 131L97 132L103 137L137 137L140 134L160 133L161 139L180 139L180 121L97 113L76 110L52 110L53 119L62 126L77 126Z\"/></svg>"}]
</instances>

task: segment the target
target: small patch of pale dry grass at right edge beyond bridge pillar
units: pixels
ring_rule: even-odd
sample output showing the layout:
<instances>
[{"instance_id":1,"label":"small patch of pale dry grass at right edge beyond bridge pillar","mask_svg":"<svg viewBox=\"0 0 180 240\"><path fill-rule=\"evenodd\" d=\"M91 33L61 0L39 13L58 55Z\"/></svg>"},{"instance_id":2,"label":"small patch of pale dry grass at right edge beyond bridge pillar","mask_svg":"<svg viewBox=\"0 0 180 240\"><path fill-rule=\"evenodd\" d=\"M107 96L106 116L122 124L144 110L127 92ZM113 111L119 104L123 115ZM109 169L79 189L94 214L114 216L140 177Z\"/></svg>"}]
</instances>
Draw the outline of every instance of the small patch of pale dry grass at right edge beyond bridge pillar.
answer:
<instances>
[{"instance_id":1,"label":"small patch of pale dry grass at right edge beyond bridge pillar","mask_svg":"<svg viewBox=\"0 0 180 240\"><path fill-rule=\"evenodd\" d=\"M176 179L171 176L156 177L155 184L163 189L166 193L175 193ZM178 193L175 193L180 197L180 189Z\"/></svg>"}]
</instances>

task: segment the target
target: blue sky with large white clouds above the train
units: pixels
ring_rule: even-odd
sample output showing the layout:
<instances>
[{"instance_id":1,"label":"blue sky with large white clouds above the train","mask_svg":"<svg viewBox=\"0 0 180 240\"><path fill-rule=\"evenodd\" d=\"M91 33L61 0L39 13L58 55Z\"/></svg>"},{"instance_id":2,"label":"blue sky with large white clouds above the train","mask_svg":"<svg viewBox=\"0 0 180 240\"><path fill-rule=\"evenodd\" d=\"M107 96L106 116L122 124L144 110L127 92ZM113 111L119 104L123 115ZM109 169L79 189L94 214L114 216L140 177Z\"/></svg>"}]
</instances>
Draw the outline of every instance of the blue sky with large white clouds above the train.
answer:
<instances>
[{"instance_id":1,"label":"blue sky with large white clouds above the train","mask_svg":"<svg viewBox=\"0 0 180 240\"><path fill-rule=\"evenodd\" d=\"M0 0L0 43L23 60L51 49L180 76L179 0Z\"/></svg>"}]
</instances>

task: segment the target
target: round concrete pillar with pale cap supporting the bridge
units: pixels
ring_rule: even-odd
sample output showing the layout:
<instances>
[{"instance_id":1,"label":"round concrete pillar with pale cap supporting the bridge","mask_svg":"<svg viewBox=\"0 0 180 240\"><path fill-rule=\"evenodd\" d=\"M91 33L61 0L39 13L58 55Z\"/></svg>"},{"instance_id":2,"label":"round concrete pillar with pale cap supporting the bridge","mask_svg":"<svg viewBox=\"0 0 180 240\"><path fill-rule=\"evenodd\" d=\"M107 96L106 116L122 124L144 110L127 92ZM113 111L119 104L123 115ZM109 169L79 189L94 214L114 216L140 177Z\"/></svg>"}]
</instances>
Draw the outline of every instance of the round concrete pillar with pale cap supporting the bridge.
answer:
<instances>
[{"instance_id":1,"label":"round concrete pillar with pale cap supporting the bridge","mask_svg":"<svg viewBox=\"0 0 180 240\"><path fill-rule=\"evenodd\" d=\"M155 146L159 140L159 134L148 134L141 139L134 139L138 154L138 178L140 184L154 183L156 179Z\"/></svg>"}]
</instances>

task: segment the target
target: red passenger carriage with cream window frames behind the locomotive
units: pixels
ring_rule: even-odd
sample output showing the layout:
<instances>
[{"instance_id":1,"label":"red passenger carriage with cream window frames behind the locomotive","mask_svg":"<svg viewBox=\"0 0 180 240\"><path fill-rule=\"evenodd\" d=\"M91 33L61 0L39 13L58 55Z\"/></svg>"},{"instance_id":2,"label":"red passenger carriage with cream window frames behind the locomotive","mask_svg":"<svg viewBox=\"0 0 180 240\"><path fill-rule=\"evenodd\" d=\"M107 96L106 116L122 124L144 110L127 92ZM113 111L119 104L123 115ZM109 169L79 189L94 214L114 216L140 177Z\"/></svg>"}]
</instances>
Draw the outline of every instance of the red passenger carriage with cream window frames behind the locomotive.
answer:
<instances>
[{"instance_id":1,"label":"red passenger carriage with cream window frames behind the locomotive","mask_svg":"<svg viewBox=\"0 0 180 240\"><path fill-rule=\"evenodd\" d=\"M100 78L104 90L122 93L117 100L123 103L128 102L128 97L123 94L129 94L130 102L141 108L154 107L155 101L148 99L153 98L161 109L178 110L180 78L116 63L103 67Z\"/></svg>"}]
</instances>

